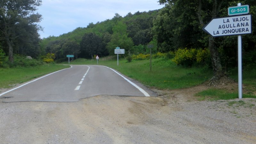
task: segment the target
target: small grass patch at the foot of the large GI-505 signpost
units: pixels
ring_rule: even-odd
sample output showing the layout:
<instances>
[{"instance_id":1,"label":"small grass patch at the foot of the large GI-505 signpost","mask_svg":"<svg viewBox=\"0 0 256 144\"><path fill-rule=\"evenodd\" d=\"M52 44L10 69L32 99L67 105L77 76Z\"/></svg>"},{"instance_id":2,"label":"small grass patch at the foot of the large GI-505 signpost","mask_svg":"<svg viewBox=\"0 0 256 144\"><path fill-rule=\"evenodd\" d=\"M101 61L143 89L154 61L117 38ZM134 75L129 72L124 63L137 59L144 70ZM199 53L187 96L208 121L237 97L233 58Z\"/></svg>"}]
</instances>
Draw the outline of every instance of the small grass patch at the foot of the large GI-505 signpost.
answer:
<instances>
[{"instance_id":1,"label":"small grass patch at the foot of the large GI-505 signpost","mask_svg":"<svg viewBox=\"0 0 256 144\"><path fill-rule=\"evenodd\" d=\"M230 100L238 98L238 92L228 92L223 89L208 89L196 94L198 100ZM256 98L253 94L243 94L243 98Z\"/></svg>"}]
</instances>

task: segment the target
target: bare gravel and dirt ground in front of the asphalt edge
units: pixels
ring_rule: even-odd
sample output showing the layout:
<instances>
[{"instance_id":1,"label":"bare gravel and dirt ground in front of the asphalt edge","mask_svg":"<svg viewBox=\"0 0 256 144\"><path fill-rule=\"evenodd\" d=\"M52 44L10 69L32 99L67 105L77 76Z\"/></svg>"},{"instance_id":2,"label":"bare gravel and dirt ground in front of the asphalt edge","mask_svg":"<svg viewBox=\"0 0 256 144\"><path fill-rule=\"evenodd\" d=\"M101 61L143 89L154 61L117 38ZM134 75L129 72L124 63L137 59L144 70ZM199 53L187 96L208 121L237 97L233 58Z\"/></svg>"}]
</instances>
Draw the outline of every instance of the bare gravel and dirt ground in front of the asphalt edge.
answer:
<instances>
[{"instance_id":1,"label":"bare gravel and dirt ground in front of the asphalt edge","mask_svg":"<svg viewBox=\"0 0 256 144\"><path fill-rule=\"evenodd\" d=\"M256 143L256 99L197 101L193 89L154 91L158 97L78 102L0 97L0 143Z\"/></svg>"}]
</instances>

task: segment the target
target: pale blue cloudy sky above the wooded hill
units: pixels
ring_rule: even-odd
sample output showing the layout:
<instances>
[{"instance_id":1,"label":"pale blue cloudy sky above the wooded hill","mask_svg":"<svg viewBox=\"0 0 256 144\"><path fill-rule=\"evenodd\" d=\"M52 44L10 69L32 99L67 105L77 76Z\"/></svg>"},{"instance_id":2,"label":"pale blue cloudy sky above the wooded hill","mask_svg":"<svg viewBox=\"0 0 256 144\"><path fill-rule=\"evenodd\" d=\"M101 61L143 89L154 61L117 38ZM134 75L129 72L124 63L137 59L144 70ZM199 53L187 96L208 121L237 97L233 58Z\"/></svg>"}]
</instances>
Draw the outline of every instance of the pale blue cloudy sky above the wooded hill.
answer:
<instances>
[{"instance_id":1,"label":"pale blue cloudy sky above the wooded hill","mask_svg":"<svg viewBox=\"0 0 256 144\"><path fill-rule=\"evenodd\" d=\"M115 13L122 17L131 12L148 12L164 7L158 0L42 0L37 12L43 16L39 23L44 28L41 38L60 36L90 22L112 19Z\"/></svg>"}]
</instances>

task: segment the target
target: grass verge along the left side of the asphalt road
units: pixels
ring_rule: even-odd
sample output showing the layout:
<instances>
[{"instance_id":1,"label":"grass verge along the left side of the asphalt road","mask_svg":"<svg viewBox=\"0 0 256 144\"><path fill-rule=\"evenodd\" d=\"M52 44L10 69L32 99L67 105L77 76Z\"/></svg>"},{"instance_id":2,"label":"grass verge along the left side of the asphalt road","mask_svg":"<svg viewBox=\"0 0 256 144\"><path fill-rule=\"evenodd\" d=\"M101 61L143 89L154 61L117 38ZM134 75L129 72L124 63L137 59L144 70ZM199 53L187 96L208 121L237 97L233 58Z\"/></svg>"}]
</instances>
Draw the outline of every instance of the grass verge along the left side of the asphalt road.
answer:
<instances>
[{"instance_id":1,"label":"grass verge along the left side of the asphalt road","mask_svg":"<svg viewBox=\"0 0 256 144\"><path fill-rule=\"evenodd\" d=\"M0 68L0 88L10 88L63 68L69 66L45 64L37 67Z\"/></svg>"}]
</instances>

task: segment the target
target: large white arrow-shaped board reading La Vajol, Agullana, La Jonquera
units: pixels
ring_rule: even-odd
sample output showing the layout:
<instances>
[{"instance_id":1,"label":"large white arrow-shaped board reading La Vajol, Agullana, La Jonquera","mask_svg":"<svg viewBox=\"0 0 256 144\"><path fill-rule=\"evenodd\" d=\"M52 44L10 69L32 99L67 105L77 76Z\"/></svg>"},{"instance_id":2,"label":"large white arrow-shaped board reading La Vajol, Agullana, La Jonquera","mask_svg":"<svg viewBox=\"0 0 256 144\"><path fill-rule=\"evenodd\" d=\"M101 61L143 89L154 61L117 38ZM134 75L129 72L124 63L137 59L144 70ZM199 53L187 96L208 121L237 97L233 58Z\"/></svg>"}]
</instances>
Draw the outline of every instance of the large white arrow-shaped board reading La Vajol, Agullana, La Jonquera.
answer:
<instances>
[{"instance_id":1,"label":"large white arrow-shaped board reading La Vajol, Agullana, La Jonquera","mask_svg":"<svg viewBox=\"0 0 256 144\"><path fill-rule=\"evenodd\" d=\"M203 30L213 37L251 34L252 16L249 14L212 19Z\"/></svg>"}]
</instances>

